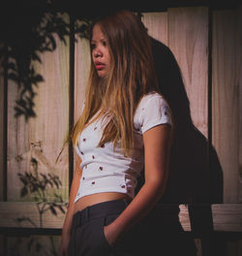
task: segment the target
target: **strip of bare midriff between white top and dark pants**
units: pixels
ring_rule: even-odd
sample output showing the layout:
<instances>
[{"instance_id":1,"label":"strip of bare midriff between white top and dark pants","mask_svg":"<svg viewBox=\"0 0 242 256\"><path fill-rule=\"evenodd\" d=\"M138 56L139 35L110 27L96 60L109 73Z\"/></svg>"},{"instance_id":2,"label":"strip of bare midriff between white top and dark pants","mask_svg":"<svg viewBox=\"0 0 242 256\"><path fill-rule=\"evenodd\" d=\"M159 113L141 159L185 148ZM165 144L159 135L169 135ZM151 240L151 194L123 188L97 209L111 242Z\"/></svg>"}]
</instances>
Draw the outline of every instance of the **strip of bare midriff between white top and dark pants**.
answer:
<instances>
[{"instance_id":1,"label":"strip of bare midriff between white top and dark pants","mask_svg":"<svg viewBox=\"0 0 242 256\"><path fill-rule=\"evenodd\" d=\"M76 213L77 211L82 210L83 208L91 207L99 203L121 199L131 200L131 198L128 195L118 192L102 192L84 196L76 202L74 211Z\"/></svg>"}]
</instances>

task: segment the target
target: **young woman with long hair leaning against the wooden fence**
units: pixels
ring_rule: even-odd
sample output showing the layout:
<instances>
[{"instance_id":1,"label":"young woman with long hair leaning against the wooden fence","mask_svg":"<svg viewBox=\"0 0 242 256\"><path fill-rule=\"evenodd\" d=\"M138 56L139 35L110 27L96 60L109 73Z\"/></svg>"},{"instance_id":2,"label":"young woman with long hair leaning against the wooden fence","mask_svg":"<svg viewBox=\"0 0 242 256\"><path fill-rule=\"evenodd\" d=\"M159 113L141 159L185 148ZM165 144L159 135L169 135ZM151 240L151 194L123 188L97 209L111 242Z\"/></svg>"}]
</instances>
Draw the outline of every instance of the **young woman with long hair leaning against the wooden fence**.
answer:
<instances>
[{"instance_id":1,"label":"young woman with long hair leaning against the wooden fence","mask_svg":"<svg viewBox=\"0 0 242 256\"><path fill-rule=\"evenodd\" d=\"M100 17L90 48L59 255L147 255L137 227L166 189L171 112L158 92L150 38L138 16L120 11ZM143 167L145 182L135 195Z\"/></svg>"}]
</instances>

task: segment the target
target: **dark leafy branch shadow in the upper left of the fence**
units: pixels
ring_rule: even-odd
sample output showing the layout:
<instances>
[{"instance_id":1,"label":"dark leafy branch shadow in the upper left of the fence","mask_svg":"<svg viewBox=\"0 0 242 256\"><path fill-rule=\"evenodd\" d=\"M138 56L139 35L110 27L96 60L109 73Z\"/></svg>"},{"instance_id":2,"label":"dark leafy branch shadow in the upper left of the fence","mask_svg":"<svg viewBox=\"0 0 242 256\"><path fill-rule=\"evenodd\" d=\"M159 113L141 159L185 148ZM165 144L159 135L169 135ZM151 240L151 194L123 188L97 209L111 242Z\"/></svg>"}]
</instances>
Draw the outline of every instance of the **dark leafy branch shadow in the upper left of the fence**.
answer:
<instances>
[{"instance_id":1,"label":"dark leafy branch shadow in the upper left of the fence","mask_svg":"<svg viewBox=\"0 0 242 256\"><path fill-rule=\"evenodd\" d=\"M70 15L52 1L6 1L0 8L0 65L8 82L17 86L15 117L23 115L28 121L36 117L35 96L45 81L36 70L36 63L43 64L46 51L53 52L58 41L68 46L70 41ZM15 8L13 8L15 7ZM72 27L80 38L86 37L89 18ZM14 82L13 82L14 81Z\"/></svg>"}]
</instances>

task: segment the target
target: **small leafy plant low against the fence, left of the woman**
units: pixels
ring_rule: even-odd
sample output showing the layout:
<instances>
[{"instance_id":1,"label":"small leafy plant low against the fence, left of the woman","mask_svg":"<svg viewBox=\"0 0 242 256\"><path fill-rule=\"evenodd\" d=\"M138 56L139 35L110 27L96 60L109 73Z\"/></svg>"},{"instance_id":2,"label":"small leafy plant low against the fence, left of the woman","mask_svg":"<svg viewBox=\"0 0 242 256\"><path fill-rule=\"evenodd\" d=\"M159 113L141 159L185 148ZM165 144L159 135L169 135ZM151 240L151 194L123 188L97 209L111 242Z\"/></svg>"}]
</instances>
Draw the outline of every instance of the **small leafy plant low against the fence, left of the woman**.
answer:
<instances>
[{"instance_id":1,"label":"small leafy plant low against the fence, left of the woman","mask_svg":"<svg viewBox=\"0 0 242 256\"><path fill-rule=\"evenodd\" d=\"M36 228L43 227L43 215L46 211L51 211L52 214L57 215L58 209L65 213L67 208L67 203L62 199L62 196L57 192L52 192L53 190L58 191L62 182L59 176L53 174L42 174L38 171L38 161L35 158L31 159L32 172L25 172L22 174L17 174L23 186L20 190L21 197L26 197L28 195L34 195L34 200L37 202L36 206L40 215L40 223L37 225L31 218L26 216L20 216L16 221L20 224L27 221ZM52 193L54 200L52 202L47 201L47 195ZM43 255L57 255L57 250L52 236L47 237L49 240L50 248L46 249L45 244L38 237L31 237L27 243L27 251L30 255L33 251L38 254ZM17 240L21 243L21 239ZM19 245L19 244L18 244ZM15 247L17 248L17 246ZM15 252L14 252L15 253ZM15 255L15 254L13 254ZM20 255L20 254L17 254Z\"/></svg>"}]
</instances>

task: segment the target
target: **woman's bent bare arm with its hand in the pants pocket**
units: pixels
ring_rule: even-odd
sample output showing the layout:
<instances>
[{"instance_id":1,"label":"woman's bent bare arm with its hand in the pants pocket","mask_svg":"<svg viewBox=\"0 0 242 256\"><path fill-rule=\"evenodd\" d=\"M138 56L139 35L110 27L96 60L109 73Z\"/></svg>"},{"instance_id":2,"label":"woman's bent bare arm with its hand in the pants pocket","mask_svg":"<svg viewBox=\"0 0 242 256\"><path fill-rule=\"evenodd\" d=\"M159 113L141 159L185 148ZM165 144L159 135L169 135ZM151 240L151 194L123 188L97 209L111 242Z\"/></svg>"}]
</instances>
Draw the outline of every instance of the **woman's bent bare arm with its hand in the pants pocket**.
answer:
<instances>
[{"instance_id":1,"label":"woman's bent bare arm with its hand in the pants pocket","mask_svg":"<svg viewBox=\"0 0 242 256\"><path fill-rule=\"evenodd\" d=\"M158 125L143 134L145 182L131 204L105 227L110 245L137 224L160 200L166 189L172 127Z\"/></svg>"}]
</instances>

